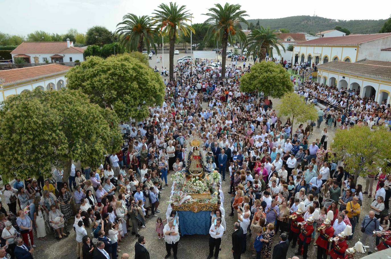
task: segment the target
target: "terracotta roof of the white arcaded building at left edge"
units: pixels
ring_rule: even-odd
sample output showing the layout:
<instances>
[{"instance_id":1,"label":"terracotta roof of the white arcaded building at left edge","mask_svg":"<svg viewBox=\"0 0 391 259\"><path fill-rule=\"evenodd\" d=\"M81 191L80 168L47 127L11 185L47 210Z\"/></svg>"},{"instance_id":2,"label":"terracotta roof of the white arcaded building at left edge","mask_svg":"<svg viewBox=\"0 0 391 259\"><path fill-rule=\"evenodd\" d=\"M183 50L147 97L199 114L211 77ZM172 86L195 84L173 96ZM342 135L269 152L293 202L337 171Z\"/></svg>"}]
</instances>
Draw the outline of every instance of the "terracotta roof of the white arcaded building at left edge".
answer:
<instances>
[{"instance_id":1,"label":"terracotta roof of the white arcaded building at left edge","mask_svg":"<svg viewBox=\"0 0 391 259\"><path fill-rule=\"evenodd\" d=\"M0 78L3 78L3 86L13 85L22 81L38 79L51 74L67 72L70 67L59 64L48 64L36 67L15 68L0 71Z\"/></svg>"}]
</instances>

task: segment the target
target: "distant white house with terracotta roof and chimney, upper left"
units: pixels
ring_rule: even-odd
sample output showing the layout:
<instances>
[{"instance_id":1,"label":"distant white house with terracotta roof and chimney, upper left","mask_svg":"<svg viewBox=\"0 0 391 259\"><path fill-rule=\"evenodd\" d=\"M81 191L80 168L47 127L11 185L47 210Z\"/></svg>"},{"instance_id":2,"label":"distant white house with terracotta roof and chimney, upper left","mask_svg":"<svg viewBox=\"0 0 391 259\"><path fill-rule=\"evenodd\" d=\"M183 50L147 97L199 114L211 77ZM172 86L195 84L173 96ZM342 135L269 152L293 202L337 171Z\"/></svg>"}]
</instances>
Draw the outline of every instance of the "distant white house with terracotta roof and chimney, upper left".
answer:
<instances>
[{"instance_id":1,"label":"distant white house with terracotta roof and chimney, upper left","mask_svg":"<svg viewBox=\"0 0 391 259\"><path fill-rule=\"evenodd\" d=\"M12 59L23 58L27 63L64 63L83 61L84 49L66 41L24 41L11 52Z\"/></svg>"}]
</instances>

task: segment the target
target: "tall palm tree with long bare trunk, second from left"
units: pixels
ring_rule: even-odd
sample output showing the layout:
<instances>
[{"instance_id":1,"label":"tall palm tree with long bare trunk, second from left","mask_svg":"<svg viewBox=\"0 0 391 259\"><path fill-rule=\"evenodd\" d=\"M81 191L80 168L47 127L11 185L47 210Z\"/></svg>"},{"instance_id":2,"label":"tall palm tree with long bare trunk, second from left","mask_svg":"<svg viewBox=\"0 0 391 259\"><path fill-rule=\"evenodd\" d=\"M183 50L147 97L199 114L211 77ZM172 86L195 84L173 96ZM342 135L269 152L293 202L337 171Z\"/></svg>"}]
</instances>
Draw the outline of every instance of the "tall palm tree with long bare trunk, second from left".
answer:
<instances>
[{"instance_id":1,"label":"tall palm tree with long bare trunk, second from left","mask_svg":"<svg viewBox=\"0 0 391 259\"><path fill-rule=\"evenodd\" d=\"M163 35L169 36L170 41L170 80L174 79L174 48L175 39L178 38L178 31L181 31L184 36L190 34L190 31L195 33L194 29L186 22L190 21L191 14L185 10L186 6L180 7L176 3L170 5L160 4L159 10L154 10L154 24L160 28Z\"/></svg>"}]
</instances>

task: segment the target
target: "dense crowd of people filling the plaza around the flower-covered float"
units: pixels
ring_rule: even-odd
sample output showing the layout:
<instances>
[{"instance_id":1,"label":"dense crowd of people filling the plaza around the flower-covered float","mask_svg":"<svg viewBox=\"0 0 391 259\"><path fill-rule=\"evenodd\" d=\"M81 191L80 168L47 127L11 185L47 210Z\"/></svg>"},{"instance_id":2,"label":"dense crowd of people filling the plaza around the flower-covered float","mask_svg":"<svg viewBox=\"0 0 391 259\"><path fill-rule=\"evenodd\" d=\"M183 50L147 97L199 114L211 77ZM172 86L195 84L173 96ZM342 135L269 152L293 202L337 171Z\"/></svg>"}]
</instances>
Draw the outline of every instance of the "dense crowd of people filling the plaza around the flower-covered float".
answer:
<instances>
[{"instance_id":1,"label":"dense crowd of people filling the plaza around the flower-covered float","mask_svg":"<svg viewBox=\"0 0 391 259\"><path fill-rule=\"evenodd\" d=\"M240 92L240 77L249 72L250 64L229 64L224 80L221 67L206 70L205 64L177 65L177 80L165 80L163 105L151 107L149 118L143 121L120 122L124 144L117 153L106 155L104 163L81 170L72 164L68 181L63 179L63 169L56 168L50 179L16 179L13 186L6 184L3 202L8 210L0 205L0 232L11 258L32 258L33 236L45 239L45 224L59 239L75 231L76 254L81 259L116 259L122 243L133 235L138 238L136 258L149 258L144 246L147 240L138 230L156 224L154 242L164 239L165 258L172 251L176 259L179 217L172 204L165 216L160 216L164 207L160 196L172 190L167 175L183 168L185 140L192 135L204 140L208 168L221 173L221 185L230 185L231 207L222 205L220 190L221 206L211 213L208 259L219 256L227 229L234 230L234 258L246 250L257 259L286 258L289 245L297 245L296 254L307 258L310 244L317 246L319 259L327 253L332 259L344 258L354 254L347 249L346 240L352 238L358 224L362 242L368 240L368 253L391 244L382 232L373 236L373 231L389 228L390 175L381 169L379 174L373 172L363 192L340 161L329 159L327 128L319 140L312 136L314 122L294 128L289 118L282 121L277 116L273 102L262 92ZM351 106L347 124L356 124L355 118L361 115L368 124L388 123L379 118L390 116L389 105L379 106L370 99L356 102L354 95L347 100L343 91L312 82L306 82L298 93L308 93L306 98L314 96L319 102L331 97L342 104L345 100L349 103L345 105ZM327 113L334 118L332 108ZM322 114L319 119L323 116L328 118ZM376 176L371 211L361 215L363 195L369 188L371 197ZM226 225L227 217L233 217L233 226ZM280 242L272 246L275 236Z\"/></svg>"}]
</instances>

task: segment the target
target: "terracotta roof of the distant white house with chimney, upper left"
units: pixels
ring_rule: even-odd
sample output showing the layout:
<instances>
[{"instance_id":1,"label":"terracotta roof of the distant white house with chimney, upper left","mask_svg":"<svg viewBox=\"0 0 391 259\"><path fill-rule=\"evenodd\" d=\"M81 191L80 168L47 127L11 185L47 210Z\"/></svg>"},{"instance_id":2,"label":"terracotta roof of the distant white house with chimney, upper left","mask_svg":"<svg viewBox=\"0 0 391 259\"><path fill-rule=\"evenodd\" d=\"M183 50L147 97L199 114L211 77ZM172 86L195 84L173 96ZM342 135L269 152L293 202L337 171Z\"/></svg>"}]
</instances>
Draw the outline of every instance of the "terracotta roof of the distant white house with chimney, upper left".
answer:
<instances>
[{"instance_id":1,"label":"terracotta roof of the distant white house with chimney, upper left","mask_svg":"<svg viewBox=\"0 0 391 259\"><path fill-rule=\"evenodd\" d=\"M24 41L11 54L66 54L83 52L84 49L82 48L73 46L68 48L66 41Z\"/></svg>"}]
</instances>

